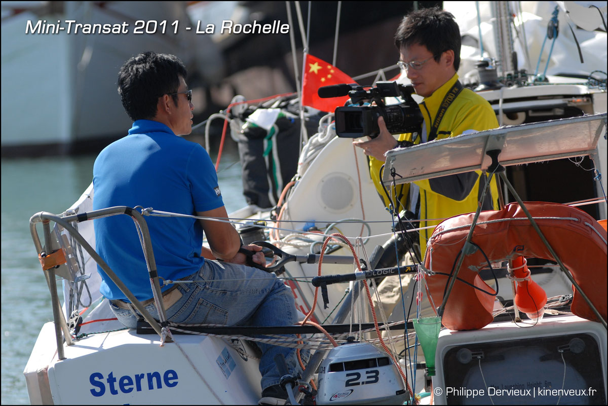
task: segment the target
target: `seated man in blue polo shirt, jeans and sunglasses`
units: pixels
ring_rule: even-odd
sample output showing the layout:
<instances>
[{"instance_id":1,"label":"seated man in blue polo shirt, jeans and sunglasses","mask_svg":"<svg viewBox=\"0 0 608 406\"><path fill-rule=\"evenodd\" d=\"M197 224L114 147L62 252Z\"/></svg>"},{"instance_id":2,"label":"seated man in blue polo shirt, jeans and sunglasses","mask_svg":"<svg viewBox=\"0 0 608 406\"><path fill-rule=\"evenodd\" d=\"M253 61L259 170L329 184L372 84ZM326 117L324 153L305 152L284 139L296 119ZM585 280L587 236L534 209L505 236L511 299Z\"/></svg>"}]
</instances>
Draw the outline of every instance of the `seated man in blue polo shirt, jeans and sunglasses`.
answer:
<instances>
[{"instance_id":1,"label":"seated man in blue polo shirt, jeans and sunglasses","mask_svg":"<svg viewBox=\"0 0 608 406\"><path fill-rule=\"evenodd\" d=\"M133 127L95 160L93 208L152 207L154 210L227 218L215 168L201 145L182 139L192 132L192 91L184 64L173 55L140 53L119 71L118 90ZM282 326L297 322L291 291L274 275L245 266L237 230L227 222L148 217L159 277L193 280L162 289L167 320L175 323ZM202 247L203 233L210 249ZM136 227L128 216L95 220L97 252L137 300L158 319ZM261 247L244 246L265 264ZM218 263L215 260L223 260ZM138 313L98 267L100 291L123 325L134 328ZM260 345L264 402L280 404L274 356L299 368L295 349ZM278 403L277 403L278 402Z\"/></svg>"}]
</instances>

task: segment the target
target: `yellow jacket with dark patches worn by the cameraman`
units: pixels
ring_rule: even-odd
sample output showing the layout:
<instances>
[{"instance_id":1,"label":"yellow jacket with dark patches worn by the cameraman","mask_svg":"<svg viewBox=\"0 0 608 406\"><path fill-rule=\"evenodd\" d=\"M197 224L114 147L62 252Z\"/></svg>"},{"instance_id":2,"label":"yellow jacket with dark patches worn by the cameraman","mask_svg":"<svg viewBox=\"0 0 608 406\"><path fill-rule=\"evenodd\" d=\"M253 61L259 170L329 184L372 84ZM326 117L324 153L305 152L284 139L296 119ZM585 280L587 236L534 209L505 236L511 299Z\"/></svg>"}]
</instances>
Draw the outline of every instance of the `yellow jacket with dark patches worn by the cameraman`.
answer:
<instances>
[{"instance_id":1,"label":"yellow jacket with dark patches worn by the cameraman","mask_svg":"<svg viewBox=\"0 0 608 406\"><path fill-rule=\"evenodd\" d=\"M437 89L430 97L424 98L420 103L420 110L424 117L423 133L424 137L417 136L412 140L412 134L400 134L399 140L413 141L419 144L426 142L435 115L439 111L441 102L447 91L454 86L458 80L458 75L454 76ZM425 129L426 127L426 129ZM459 136L466 130L484 131L486 129L497 128L498 122L496 114L483 97L470 89L462 89L460 94L452 101L441 120L437 131L437 139ZM421 140L421 138L424 138ZM378 193L384 199L384 204L389 205L379 178L379 171L384 162L370 157L370 176L373 179ZM448 175L436 177L434 179L424 179L415 181L412 184L397 185L396 197L401 203L401 210L406 208L423 221L420 227L437 225L442 219L463 213L471 213L477 210L478 194L483 190L485 177L481 176L481 171L463 173L458 175ZM482 185L480 187L480 179ZM496 210L498 208L498 189L496 179L492 179L490 185L491 196L486 196L482 210ZM432 235L433 229L420 230L420 250L426 251L426 241Z\"/></svg>"}]
</instances>

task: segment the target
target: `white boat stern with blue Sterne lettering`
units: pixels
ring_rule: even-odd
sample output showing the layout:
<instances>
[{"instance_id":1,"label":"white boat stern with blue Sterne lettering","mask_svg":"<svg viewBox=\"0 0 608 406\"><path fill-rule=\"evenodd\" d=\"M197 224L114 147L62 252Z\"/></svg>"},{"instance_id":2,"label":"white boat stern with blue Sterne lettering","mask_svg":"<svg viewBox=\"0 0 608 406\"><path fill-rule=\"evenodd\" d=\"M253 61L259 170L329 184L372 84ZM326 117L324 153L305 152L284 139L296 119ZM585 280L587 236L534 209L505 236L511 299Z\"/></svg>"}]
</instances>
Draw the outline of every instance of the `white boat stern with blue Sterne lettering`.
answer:
<instances>
[{"instance_id":1,"label":"white boat stern with blue Sterne lettering","mask_svg":"<svg viewBox=\"0 0 608 406\"><path fill-rule=\"evenodd\" d=\"M50 354L54 331L47 323L35 348ZM260 399L259 360L249 343L204 335L174 339L161 346L156 334L123 330L64 345L64 360L32 353L25 371L30 402L234 405Z\"/></svg>"}]
</instances>

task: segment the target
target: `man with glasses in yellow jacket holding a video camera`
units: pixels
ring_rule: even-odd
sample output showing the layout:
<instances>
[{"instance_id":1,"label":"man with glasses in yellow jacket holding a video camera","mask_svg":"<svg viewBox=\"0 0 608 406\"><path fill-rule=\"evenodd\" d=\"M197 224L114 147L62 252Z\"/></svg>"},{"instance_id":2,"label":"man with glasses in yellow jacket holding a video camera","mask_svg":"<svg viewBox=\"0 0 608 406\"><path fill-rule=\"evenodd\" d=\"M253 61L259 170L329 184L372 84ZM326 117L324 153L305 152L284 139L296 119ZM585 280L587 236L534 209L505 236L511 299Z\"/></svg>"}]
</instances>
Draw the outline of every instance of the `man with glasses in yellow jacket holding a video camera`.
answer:
<instances>
[{"instance_id":1,"label":"man with glasses in yellow jacket holding a video camera","mask_svg":"<svg viewBox=\"0 0 608 406\"><path fill-rule=\"evenodd\" d=\"M399 66L405 69L416 94L424 97L420 103L423 128L420 134L400 134L395 139L380 117L378 137L353 142L370 157L370 176L387 206L389 200L385 197L379 177L387 151L398 146L416 145L498 127L496 115L488 101L469 89L463 89L458 81L460 30L451 13L437 8L410 13L399 25L395 45L401 57ZM439 224L444 218L474 212L486 180L484 174L475 171L398 185L394 193L401 208L420 219L420 227L427 227ZM482 210L498 208L498 190L494 179L490 191L491 194L486 194L481 202ZM420 231L421 253L425 252L432 232L432 228ZM403 280L404 290L409 279ZM379 286L379 292L384 310L390 314L401 298L399 281L386 278Z\"/></svg>"}]
</instances>

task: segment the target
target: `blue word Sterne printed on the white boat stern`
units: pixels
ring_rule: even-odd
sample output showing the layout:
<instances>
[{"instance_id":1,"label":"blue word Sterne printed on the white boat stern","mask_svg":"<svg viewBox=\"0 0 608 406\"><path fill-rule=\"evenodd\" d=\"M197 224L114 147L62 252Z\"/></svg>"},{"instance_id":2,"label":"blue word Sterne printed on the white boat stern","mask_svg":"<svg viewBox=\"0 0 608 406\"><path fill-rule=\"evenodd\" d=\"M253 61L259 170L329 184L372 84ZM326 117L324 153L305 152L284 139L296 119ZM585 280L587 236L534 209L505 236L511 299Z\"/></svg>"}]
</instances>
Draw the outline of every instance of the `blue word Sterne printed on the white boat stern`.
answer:
<instances>
[{"instance_id":1,"label":"blue word Sterne printed on the white boat stern","mask_svg":"<svg viewBox=\"0 0 608 406\"><path fill-rule=\"evenodd\" d=\"M93 396L103 396L106 393L106 384L111 394L119 394L119 390L122 393L131 393L133 390L140 392L145 388L148 388L148 390L162 389L163 383L167 388L176 387L179 383L178 373L174 370L165 371L162 374L162 379L161 373L157 371L148 372L147 374L134 374L133 376L123 375L120 378L114 377L114 372L111 371L108 377L105 378L105 383L104 378L100 372L94 372L89 376L89 382L94 387L91 389ZM118 382L118 388L116 387L116 382Z\"/></svg>"}]
</instances>

